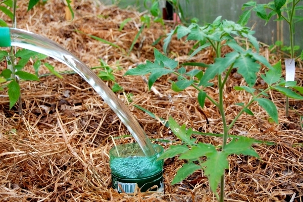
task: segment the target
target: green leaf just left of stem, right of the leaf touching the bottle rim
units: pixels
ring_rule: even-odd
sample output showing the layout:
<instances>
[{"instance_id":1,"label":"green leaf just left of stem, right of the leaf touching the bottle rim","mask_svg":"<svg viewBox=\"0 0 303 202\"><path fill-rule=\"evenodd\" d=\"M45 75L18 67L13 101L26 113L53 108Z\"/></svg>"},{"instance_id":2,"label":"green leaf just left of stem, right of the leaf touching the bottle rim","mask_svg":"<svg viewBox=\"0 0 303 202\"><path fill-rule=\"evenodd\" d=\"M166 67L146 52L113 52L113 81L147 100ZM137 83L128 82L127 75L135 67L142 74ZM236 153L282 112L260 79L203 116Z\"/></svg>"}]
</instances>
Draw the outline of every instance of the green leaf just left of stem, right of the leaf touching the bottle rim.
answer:
<instances>
[{"instance_id":1,"label":"green leaf just left of stem, right of the leaf touching the bottle rim","mask_svg":"<svg viewBox=\"0 0 303 202\"><path fill-rule=\"evenodd\" d=\"M209 156L212 153L217 153L216 147L212 144L199 142L197 145L192 146L190 150L183 153L179 159L195 160L200 157Z\"/></svg>"}]
</instances>

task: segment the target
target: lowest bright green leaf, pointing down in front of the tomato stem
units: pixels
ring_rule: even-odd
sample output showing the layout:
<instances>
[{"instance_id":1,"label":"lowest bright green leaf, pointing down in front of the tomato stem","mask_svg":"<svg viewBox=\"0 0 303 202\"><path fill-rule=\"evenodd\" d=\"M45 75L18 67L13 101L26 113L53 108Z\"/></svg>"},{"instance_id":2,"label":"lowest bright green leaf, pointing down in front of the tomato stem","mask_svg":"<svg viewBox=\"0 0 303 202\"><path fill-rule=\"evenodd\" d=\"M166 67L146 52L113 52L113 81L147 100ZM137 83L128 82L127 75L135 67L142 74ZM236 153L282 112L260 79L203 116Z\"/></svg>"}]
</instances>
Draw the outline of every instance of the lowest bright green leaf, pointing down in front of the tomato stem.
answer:
<instances>
[{"instance_id":1,"label":"lowest bright green leaf, pointing down in front of the tomato stem","mask_svg":"<svg viewBox=\"0 0 303 202\"><path fill-rule=\"evenodd\" d=\"M225 169L229 168L227 156L228 155L222 151L216 151L216 153L211 153L207 157L207 160L201 164L201 166L204 167L204 174L208 177L213 192L216 192Z\"/></svg>"}]
</instances>

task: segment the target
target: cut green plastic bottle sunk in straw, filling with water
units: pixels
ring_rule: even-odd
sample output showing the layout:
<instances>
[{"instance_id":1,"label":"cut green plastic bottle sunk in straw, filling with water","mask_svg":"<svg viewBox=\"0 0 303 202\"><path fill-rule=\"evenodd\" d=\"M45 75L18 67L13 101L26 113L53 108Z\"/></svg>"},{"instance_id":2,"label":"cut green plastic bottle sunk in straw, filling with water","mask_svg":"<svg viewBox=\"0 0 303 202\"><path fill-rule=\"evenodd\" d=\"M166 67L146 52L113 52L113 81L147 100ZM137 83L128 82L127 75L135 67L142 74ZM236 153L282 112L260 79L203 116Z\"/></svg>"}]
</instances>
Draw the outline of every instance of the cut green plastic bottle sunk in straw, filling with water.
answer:
<instances>
[{"instance_id":1,"label":"cut green plastic bottle sunk in straw, filling with water","mask_svg":"<svg viewBox=\"0 0 303 202\"><path fill-rule=\"evenodd\" d=\"M137 143L117 145L110 150L112 185L118 192L133 193L136 186L141 192L164 191L163 164L157 160L163 147L153 144L157 155L146 157Z\"/></svg>"}]
</instances>

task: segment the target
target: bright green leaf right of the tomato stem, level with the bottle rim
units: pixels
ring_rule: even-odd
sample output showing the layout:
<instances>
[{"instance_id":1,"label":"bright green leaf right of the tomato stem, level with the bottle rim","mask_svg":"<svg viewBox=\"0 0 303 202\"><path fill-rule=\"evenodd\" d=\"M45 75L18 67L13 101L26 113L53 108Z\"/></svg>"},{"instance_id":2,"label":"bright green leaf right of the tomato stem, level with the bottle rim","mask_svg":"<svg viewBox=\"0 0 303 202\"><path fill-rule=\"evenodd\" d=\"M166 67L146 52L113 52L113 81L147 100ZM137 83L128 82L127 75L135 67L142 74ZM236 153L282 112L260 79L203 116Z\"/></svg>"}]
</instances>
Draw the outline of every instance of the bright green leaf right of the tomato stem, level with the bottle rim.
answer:
<instances>
[{"instance_id":1,"label":"bright green leaf right of the tomato stem, level with the bottle rim","mask_svg":"<svg viewBox=\"0 0 303 202\"><path fill-rule=\"evenodd\" d=\"M259 158L259 155L254 149L251 149L251 145L256 143L255 139L240 136L237 140L234 138L230 143L226 144L223 152L227 155L236 154L236 155L249 155L252 157Z\"/></svg>"}]
</instances>

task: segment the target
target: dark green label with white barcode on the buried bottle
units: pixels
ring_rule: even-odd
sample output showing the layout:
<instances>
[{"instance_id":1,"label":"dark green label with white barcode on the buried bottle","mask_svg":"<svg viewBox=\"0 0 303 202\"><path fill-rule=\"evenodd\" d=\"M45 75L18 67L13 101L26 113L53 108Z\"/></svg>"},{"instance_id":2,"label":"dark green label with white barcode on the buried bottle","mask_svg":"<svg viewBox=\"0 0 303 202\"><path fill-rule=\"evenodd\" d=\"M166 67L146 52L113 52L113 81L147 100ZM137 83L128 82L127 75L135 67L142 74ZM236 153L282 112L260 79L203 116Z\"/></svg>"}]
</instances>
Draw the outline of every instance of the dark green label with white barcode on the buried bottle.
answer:
<instances>
[{"instance_id":1,"label":"dark green label with white barcode on the buried bottle","mask_svg":"<svg viewBox=\"0 0 303 202\"><path fill-rule=\"evenodd\" d=\"M145 192L154 186L155 188L150 189L150 191L164 191L163 171L149 177L137 179L120 178L112 173L112 183L113 188L118 190L119 193L133 193L136 185L140 188L141 192Z\"/></svg>"}]
</instances>

